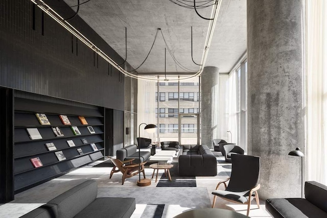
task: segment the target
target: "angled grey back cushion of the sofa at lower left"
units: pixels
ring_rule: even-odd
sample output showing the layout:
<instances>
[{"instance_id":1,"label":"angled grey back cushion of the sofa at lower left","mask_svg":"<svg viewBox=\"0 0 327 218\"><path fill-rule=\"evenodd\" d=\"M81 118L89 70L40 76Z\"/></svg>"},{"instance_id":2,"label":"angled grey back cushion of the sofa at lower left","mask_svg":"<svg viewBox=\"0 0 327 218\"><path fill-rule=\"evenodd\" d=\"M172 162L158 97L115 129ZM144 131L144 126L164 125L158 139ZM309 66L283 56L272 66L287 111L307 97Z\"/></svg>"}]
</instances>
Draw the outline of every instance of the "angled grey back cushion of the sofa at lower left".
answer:
<instances>
[{"instance_id":1,"label":"angled grey back cushion of the sofa at lower left","mask_svg":"<svg viewBox=\"0 0 327 218\"><path fill-rule=\"evenodd\" d=\"M77 213L92 203L98 194L98 184L95 180L87 180L71 188L48 204L58 206L58 217L74 217Z\"/></svg>"}]
</instances>

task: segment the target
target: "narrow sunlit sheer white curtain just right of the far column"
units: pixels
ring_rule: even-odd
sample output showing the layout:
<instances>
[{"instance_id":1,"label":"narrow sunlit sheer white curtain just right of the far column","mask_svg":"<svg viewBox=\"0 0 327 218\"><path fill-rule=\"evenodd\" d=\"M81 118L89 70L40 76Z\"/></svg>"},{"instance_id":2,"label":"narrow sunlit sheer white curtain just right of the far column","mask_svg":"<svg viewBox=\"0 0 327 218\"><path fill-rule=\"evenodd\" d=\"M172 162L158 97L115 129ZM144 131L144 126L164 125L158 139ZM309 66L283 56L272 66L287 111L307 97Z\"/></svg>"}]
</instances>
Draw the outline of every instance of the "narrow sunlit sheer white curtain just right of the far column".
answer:
<instances>
[{"instance_id":1,"label":"narrow sunlit sheer white curtain just right of the far column","mask_svg":"<svg viewBox=\"0 0 327 218\"><path fill-rule=\"evenodd\" d=\"M228 77L228 105L227 105L227 131L228 133L228 142L237 143L238 128L237 128L237 83L236 83L236 71L232 70Z\"/></svg>"}]
</instances>

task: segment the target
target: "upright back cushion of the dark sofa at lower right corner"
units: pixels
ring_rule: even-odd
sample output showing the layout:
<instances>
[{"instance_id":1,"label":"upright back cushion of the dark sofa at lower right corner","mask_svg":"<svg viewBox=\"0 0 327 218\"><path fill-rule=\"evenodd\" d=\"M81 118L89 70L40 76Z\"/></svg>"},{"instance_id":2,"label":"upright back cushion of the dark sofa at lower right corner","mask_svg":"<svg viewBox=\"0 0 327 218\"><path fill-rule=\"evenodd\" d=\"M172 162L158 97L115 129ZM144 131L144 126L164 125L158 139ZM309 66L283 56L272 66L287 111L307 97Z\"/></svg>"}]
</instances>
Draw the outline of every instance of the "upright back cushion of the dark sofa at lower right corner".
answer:
<instances>
[{"instance_id":1,"label":"upright back cushion of the dark sofa at lower right corner","mask_svg":"<svg viewBox=\"0 0 327 218\"><path fill-rule=\"evenodd\" d=\"M312 204L327 212L327 186L315 181L308 181L305 183L305 196Z\"/></svg>"}]
</instances>

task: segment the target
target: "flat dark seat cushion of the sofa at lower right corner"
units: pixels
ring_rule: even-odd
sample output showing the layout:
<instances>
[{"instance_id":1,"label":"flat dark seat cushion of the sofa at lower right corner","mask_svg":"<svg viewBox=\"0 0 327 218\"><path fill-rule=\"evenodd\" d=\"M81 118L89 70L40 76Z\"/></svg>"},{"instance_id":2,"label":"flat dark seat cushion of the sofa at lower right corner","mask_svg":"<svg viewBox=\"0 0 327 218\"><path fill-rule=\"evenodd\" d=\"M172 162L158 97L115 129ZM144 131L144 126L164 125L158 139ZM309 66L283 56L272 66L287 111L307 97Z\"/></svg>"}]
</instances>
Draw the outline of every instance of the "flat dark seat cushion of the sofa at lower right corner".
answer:
<instances>
[{"instance_id":1,"label":"flat dark seat cushion of the sofa at lower right corner","mask_svg":"<svg viewBox=\"0 0 327 218\"><path fill-rule=\"evenodd\" d=\"M266 200L266 210L274 217L326 217L326 213L302 198L273 198Z\"/></svg>"}]
</instances>

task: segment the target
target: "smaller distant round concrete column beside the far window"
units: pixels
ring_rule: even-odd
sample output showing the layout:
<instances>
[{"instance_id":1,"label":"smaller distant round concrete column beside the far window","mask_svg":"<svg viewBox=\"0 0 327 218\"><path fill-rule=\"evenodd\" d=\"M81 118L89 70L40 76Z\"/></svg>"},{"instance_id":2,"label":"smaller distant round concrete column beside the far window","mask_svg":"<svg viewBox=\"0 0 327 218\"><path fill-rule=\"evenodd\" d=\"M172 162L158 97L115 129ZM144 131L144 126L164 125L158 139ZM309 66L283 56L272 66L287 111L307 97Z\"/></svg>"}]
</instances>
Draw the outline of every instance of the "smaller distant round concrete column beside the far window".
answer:
<instances>
[{"instance_id":1,"label":"smaller distant round concrete column beside the far window","mask_svg":"<svg viewBox=\"0 0 327 218\"><path fill-rule=\"evenodd\" d=\"M219 90L219 68L204 67L201 74L201 144L213 148L217 137L217 100Z\"/></svg>"}]
</instances>

